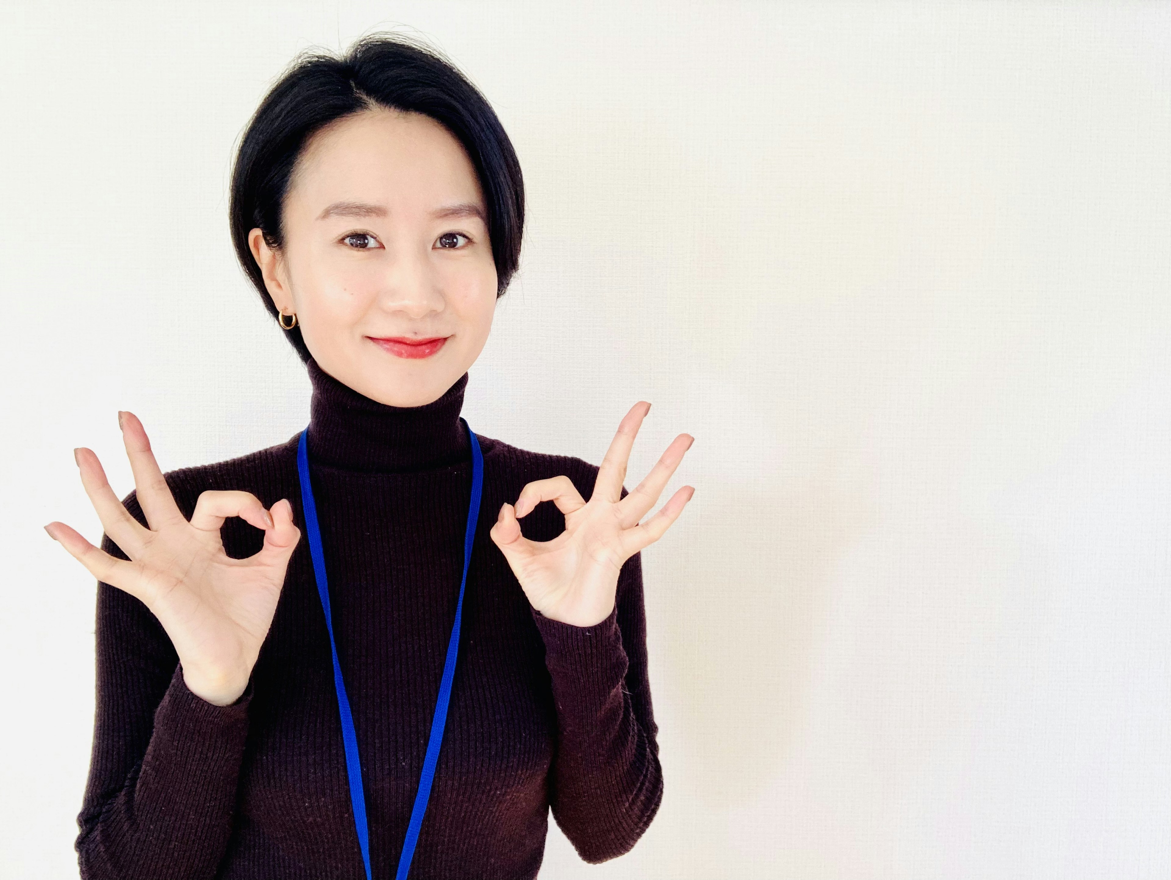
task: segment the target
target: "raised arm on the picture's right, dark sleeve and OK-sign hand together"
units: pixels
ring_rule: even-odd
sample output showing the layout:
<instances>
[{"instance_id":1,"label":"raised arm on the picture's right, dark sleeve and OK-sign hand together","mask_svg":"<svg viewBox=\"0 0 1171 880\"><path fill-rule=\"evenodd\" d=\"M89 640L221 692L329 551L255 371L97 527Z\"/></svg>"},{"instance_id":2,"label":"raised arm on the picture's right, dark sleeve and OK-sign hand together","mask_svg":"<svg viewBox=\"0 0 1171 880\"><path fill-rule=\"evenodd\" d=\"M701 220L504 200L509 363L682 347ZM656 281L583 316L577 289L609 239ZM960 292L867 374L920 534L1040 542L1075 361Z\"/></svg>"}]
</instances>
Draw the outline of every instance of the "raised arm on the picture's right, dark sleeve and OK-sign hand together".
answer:
<instances>
[{"instance_id":1,"label":"raised arm on the picture's right, dark sleeve and OK-sign hand together","mask_svg":"<svg viewBox=\"0 0 1171 880\"><path fill-rule=\"evenodd\" d=\"M584 468L576 468L576 479L559 475L526 484L515 506L501 506L491 532L546 644L560 726L553 813L578 854L594 862L628 852L662 799L639 554L679 517L694 489L683 486L639 520L694 438L676 437L626 492L626 462L649 409L641 401L626 412L600 468L578 459ZM520 528L519 519L541 502L566 514L564 531L548 541Z\"/></svg>"}]
</instances>

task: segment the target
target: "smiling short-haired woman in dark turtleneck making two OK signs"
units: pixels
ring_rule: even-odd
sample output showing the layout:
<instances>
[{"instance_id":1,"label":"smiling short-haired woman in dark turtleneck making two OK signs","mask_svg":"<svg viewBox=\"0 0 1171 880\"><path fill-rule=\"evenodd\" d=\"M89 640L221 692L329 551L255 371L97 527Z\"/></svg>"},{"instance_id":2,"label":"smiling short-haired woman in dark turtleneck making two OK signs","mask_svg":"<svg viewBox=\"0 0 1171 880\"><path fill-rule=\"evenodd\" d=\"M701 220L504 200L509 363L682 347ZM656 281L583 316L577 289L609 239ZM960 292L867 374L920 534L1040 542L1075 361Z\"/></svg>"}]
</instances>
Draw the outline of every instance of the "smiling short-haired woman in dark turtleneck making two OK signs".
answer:
<instances>
[{"instance_id":1,"label":"smiling short-haired woman in dark turtleneck making two OK signs","mask_svg":"<svg viewBox=\"0 0 1171 880\"><path fill-rule=\"evenodd\" d=\"M583 859L629 851L663 791L639 551L693 490L639 520L692 437L628 496L648 403L600 468L461 419L521 243L495 114L402 39L306 55L231 214L310 421L163 475L119 412L123 502L76 450L102 547L46 528L100 580L82 875L533 878L550 807Z\"/></svg>"}]
</instances>

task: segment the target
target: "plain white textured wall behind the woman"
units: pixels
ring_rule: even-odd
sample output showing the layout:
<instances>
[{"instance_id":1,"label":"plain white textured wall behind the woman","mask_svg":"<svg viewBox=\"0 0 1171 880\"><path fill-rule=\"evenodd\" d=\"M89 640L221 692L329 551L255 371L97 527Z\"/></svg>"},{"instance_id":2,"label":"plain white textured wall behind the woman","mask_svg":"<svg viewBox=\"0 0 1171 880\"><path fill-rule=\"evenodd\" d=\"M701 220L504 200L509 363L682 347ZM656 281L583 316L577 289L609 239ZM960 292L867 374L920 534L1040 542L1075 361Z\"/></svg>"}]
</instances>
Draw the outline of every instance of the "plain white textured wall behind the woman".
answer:
<instances>
[{"instance_id":1,"label":"plain white textured wall behind the woman","mask_svg":"<svg viewBox=\"0 0 1171 880\"><path fill-rule=\"evenodd\" d=\"M1171 874L1171 5L0 7L0 875L76 875L101 526L290 437L308 383L238 270L233 145L299 49L406 28L528 185L472 368L489 436L639 477L665 800L548 878Z\"/></svg>"}]
</instances>

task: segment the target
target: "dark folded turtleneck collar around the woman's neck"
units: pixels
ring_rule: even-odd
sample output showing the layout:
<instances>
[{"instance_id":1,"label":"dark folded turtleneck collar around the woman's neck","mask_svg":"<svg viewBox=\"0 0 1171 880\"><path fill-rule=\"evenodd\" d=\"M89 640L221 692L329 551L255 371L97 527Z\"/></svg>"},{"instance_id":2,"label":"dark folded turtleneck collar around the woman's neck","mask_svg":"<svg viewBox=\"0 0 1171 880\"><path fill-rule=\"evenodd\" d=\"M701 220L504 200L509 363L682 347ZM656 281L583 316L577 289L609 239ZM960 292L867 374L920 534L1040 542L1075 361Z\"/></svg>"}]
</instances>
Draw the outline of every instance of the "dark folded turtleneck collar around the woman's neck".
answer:
<instances>
[{"instance_id":1,"label":"dark folded turtleneck collar around the woman's neck","mask_svg":"<svg viewBox=\"0 0 1171 880\"><path fill-rule=\"evenodd\" d=\"M422 407L391 407L371 400L307 363L309 458L354 471L418 471L467 462L472 448L459 421L465 373L438 400Z\"/></svg>"}]
</instances>

